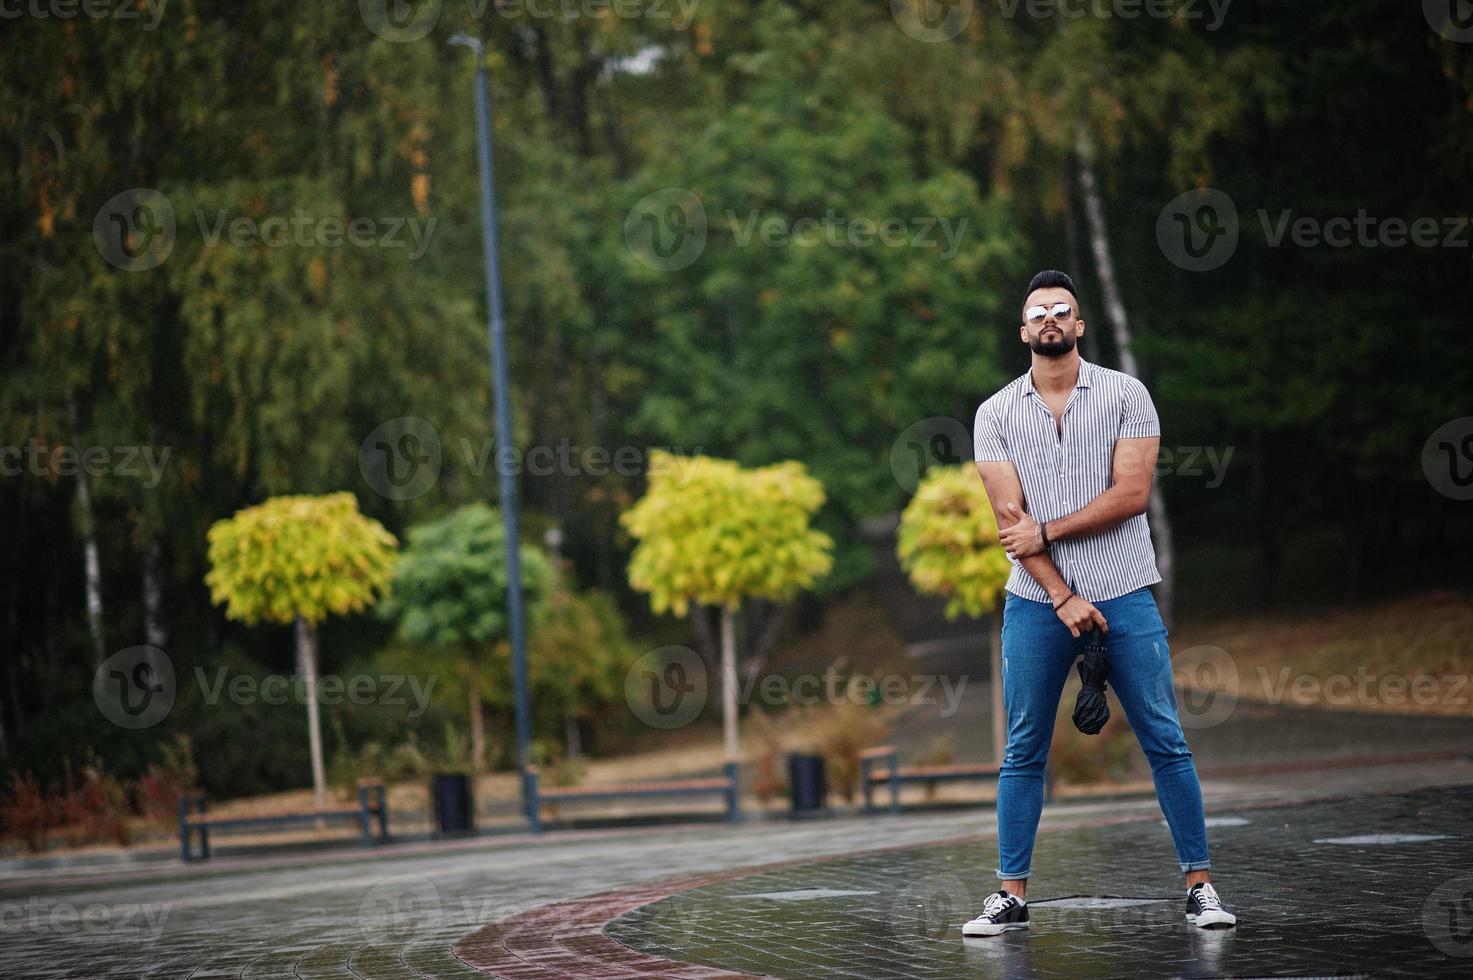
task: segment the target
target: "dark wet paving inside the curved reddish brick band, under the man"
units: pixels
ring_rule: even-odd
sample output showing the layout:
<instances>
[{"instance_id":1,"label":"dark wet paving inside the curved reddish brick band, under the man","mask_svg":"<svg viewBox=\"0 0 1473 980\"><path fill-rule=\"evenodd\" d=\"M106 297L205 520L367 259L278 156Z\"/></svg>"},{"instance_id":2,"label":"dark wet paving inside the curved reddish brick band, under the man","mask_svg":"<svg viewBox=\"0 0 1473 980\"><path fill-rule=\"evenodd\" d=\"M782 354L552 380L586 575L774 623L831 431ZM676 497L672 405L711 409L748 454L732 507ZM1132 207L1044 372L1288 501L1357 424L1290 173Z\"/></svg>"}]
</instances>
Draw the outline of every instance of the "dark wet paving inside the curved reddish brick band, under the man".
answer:
<instances>
[{"instance_id":1,"label":"dark wet paving inside the curved reddish brick band, under the man","mask_svg":"<svg viewBox=\"0 0 1473 980\"><path fill-rule=\"evenodd\" d=\"M1236 930L1183 920L1156 821L1040 837L1028 931L962 939L987 843L720 881L627 912L636 951L775 977L1473 974L1473 790L1245 809L1212 821Z\"/></svg>"}]
</instances>

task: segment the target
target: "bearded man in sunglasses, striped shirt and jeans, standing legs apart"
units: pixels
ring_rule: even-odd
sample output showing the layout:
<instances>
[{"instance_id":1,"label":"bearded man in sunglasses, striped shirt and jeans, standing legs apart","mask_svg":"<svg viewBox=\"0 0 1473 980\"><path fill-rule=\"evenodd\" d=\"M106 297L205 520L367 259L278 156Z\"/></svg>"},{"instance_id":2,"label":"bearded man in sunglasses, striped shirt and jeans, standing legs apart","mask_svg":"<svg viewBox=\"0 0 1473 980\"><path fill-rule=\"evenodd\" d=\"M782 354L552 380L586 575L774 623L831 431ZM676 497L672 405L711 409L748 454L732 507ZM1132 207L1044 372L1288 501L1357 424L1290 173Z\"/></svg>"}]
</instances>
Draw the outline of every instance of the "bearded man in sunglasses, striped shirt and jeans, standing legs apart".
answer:
<instances>
[{"instance_id":1,"label":"bearded man in sunglasses, striped shirt and jeans, standing legs apart","mask_svg":"<svg viewBox=\"0 0 1473 980\"><path fill-rule=\"evenodd\" d=\"M1226 928L1208 868L1202 788L1177 718L1171 654L1150 585L1161 581L1146 503L1161 424L1146 386L1090 364L1074 281L1028 283L1018 335L1033 370L977 410L977 470L1012 561L1003 606L1008 747L997 780L1002 890L963 936L1028 927L1028 875L1043 771L1075 640L1105 631L1111 685L1150 760L1156 800L1187 883L1187 921Z\"/></svg>"}]
</instances>

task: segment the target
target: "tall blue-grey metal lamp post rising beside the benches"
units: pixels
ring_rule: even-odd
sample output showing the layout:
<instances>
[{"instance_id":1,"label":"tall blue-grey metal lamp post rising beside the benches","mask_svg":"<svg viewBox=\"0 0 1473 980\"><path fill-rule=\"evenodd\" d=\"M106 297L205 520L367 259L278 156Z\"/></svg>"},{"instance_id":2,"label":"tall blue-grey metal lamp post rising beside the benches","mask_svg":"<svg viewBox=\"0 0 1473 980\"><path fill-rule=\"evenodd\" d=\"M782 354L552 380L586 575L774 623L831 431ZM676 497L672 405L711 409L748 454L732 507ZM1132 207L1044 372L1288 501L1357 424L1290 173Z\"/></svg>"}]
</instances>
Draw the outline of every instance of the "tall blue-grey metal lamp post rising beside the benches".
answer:
<instances>
[{"instance_id":1,"label":"tall blue-grey metal lamp post rising beside the benches","mask_svg":"<svg viewBox=\"0 0 1473 980\"><path fill-rule=\"evenodd\" d=\"M496 411L498 457L511 447L511 396L507 385L507 324L501 315L501 262L496 256L496 186L491 155L491 83L486 78L486 46L477 37L457 34L451 44L476 53L476 147L480 158L480 224L486 252L486 305L491 333L491 377ZM521 811L530 812L532 709L527 699L527 637L521 616L521 557L517 533L517 480L511 466L496 466L501 475L501 516L507 526L507 619L511 625L511 676L517 700L517 772L521 775Z\"/></svg>"}]
</instances>

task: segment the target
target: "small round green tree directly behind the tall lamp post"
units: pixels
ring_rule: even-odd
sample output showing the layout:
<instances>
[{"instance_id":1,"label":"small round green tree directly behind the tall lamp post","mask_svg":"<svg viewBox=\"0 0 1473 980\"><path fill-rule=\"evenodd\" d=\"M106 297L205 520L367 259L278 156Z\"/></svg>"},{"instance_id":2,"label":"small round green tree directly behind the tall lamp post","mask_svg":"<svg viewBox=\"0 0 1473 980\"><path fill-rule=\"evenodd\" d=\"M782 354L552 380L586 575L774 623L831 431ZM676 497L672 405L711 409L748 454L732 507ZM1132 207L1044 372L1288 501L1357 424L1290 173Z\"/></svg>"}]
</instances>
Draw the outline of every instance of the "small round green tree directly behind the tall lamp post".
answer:
<instances>
[{"instance_id":1,"label":"small round green tree directly behind the tall lamp post","mask_svg":"<svg viewBox=\"0 0 1473 980\"><path fill-rule=\"evenodd\" d=\"M411 644L457 656L470 700L471 766L486 756L480 668L507 638L507 532L501 511L476 503L411 528L380 615ZM541 615L552 566L523 547L521 595L527 620Z\"/></svg>"}]
</instances>

